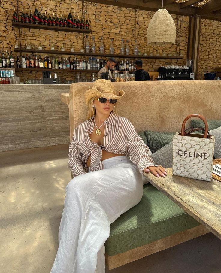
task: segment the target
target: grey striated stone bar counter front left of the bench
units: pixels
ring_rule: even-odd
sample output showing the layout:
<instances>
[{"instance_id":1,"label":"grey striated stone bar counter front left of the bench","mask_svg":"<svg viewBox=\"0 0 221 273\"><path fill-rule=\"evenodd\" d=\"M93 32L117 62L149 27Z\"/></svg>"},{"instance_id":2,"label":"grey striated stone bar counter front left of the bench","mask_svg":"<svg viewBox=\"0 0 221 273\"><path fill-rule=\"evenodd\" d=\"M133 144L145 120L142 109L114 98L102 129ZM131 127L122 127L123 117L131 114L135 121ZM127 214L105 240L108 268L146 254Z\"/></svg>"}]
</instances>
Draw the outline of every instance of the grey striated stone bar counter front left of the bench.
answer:
<instances>
[{"instance_id":1,"label":"grey striated stone bar counter front left of the bench","mask_svg":"<svg viewBox=\"0 0 221 273\"><path fill-rule=\"evenodd\" d=\"M0 85L0 151L70 143L69 113L60 94L70 85Z\"/></svg>"}]
</instances>

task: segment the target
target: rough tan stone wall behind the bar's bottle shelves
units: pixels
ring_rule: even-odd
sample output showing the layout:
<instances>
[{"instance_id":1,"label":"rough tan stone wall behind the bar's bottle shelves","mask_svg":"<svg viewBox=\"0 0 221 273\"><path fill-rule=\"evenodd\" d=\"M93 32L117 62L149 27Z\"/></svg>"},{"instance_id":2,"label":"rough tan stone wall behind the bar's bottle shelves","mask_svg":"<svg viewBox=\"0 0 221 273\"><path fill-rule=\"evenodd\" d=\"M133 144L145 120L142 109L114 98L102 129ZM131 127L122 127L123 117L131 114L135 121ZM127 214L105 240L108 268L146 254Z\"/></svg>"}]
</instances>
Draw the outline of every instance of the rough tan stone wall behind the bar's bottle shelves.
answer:
<instances>
[{"instance_id":1,"label":"rough tan stone wall behind the bar's bottle shelves","mask_svg":"<svg viewBox=\"0 0 221 273\"><path fill-rule=\"evenodd\" d=\"M37 4L38 11L44 11L49 14L58 13L64 16L68 15L68 8L71 7L72 16L81 16L82 15L82 2L81 1L70 1L70 0L40 0L40 1L30 1L30 0L19 0L19 14L21 14L21 9L28 9L30 13L30 8L32 12L35 9L35 3ZM15 42L19 40L18 29L12 28L11 20L14 12L14 7L16 7L15 0L1 1L0 2L0 50L14 50ZM109 50L110 39L114 39L115 53L120 51L121 39L129 40L130 53L132 54L134 40L135 40L135 10L129 8L121 8L110 5L95 4L90 2L85 2L85 10L87 11L90 26L92 33L90 33L89 41L92 41L92 36L95 37L96 49L98 52L98 46L100 38L103 37L103 42L105 50ZM177 16L172 15L174 22L177 26L177 44L172 46L164 47L153 47L147 45L146 32L147 26L153 16L154 12L150 11L139 11L139 20L136 25L136 33L138 33L139 26L139 49L141 53L146 52L149 54L153 52L156 54L158 51L159 54L162 53L172 53L176 55L177 53L183 54L183 59L180 60L171 60L171 59L143 59L144 69L148 71L157 71L160 65L168 65L171 63L178 65L186 64L187 56L187 43L188 43L188 26L189 26L189 17L186 16ZM60 17L60 16L59 16ZM216 49L220 46L220 38L218 38L218 32L220 31L220 26L218 27L218 21L209 21L202 20L202 34L201 34L201 47L200 47L200 59L199 59L199 69L205 64L208 67L216 67L217 59L220 56L219 53L216 53L217 56L212 54L205 48ZM209 26L209 32L207 30ZM218 29L218 30L217 30ZM137 36L137 35L136 35ZM217 37L216 37L217 36ZM212 43L211 43L212 40ZM54 44L56 50L58 50L62 43L64 43L65 50L70 50L74 47L75 51L80 51L83 41L82 34L74 34L68 32L57 32L49 30L39 30L39 29L21 29L21 45L22 47L26 46L26 43L30 41L33 48L38 47L39 43L44 46L44 49L50 49L51 45ZM213 43L216 43L216 45ZM218 44L218 45L217 45ZM33 52L35 50L33 49ZM16 56L14 54L14 56ZM77 56L80 58L80 56ZM17 75L22 76L22 80L27 78L39 78L41 77L41 72L34 71L23 71L17 72ZM75 73L71 72L59 72L59 76L62 76L66 80L74 79ZM90 73L87 73L87 77L90 77Z\"/></svg>"}]
</instances>

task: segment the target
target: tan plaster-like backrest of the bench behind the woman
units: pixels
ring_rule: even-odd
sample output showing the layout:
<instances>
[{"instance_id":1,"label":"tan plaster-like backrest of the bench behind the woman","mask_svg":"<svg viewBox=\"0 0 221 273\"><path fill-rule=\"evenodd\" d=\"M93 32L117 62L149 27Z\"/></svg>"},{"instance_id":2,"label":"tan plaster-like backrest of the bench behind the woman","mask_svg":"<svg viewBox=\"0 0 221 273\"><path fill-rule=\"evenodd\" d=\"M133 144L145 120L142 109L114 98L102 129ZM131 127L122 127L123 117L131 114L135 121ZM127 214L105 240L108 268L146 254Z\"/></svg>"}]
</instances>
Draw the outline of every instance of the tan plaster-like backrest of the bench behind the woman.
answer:
<instances>
[{"instance_id":1,"label":"tan plaster-like backrest of the bench behind the woman","mask_svg":"<svg viewBox=\"0 0 221 273\"><path fill-rule=\"evenodd\" d=\"M93 83L73 83L69 96L70 135L86 120L84 93ZM184 118L201 114L207 120L221 120L221 80L139 81L113 83L125 95L117 102L120 116L128 118L137 132L180 131ZM188 126L188 124L187 124Z\"/></svg>"}]
</instances>

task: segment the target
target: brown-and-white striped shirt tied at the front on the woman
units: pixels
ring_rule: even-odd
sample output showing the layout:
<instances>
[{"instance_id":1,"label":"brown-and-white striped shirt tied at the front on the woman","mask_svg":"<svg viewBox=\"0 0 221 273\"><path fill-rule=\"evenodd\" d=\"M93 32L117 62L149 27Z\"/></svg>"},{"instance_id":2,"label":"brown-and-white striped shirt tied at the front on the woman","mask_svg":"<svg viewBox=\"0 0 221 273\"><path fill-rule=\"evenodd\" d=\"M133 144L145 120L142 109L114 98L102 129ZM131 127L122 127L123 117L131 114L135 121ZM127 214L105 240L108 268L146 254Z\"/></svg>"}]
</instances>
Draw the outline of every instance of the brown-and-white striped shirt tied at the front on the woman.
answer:
<instances>
[{"instance_id":1,"label":"brown-and-white striped shirt tied at the front on the woman","mask_svg":"<svg viewBox=\"0 0 221 273\"><path fill-rule=\"evenodd\" d=\"M93 119L90 117L80 123L75 129L69 145L68 165L72 171L73 177L88 172L87 159L91 156L90 170L98 171L104 169L101 162L101 147L92 142L89 134L94 130ZM148 154L149 148L142 138L135 131L134 126L125 117L116 116L111 112L105 121L105 130L103 138L103 150L115 153L125 154L135 163L143 174L144 168L154 165L152 157Z\"/></svg>"}]
</instances>

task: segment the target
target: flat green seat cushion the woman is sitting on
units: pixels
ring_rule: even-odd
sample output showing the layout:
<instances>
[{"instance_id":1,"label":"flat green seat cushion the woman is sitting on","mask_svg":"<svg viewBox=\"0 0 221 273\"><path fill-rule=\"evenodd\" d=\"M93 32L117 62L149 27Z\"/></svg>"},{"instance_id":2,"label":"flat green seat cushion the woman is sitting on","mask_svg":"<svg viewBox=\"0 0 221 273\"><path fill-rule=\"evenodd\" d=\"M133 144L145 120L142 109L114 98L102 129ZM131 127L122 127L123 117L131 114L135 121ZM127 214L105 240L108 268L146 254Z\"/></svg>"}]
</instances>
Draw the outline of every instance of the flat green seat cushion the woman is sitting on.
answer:
<instances>
[{"instance_id":1,"label":"flat green seat cushion the woman is sitting on","mask_svg":"<svg viewBox=\"0 0 221 273\"><path fill-rule=\"evenodd\" d=\"M114 256L198 225L167 196L146 184L139 204L111 224L105 249Z\"/></svg>"}]
</instances>

